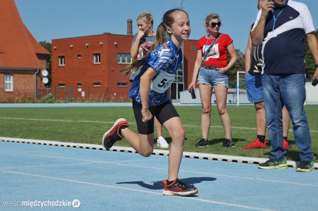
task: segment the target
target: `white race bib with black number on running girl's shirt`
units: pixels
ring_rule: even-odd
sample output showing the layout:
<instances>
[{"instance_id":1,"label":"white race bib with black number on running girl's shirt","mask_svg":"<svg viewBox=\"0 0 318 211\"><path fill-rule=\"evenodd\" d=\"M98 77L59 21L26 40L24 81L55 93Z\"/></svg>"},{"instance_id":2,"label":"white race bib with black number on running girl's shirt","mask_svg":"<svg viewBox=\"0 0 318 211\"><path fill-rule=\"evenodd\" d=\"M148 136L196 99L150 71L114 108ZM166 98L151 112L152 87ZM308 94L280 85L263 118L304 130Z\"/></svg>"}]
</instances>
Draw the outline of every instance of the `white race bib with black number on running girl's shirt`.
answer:
<instances>
[{"instance_id":1,"label":"white race bib with black number on running girl's shirt","mask_svg":"<svg viewBox=\"0 0 318 211\"><path fill-rule=\"evenodd\" d=\"M161 71L159 75L150 84L150 89L157 93L164 93L175 80L176 74Z\"/></svg>"}]
</instances>

